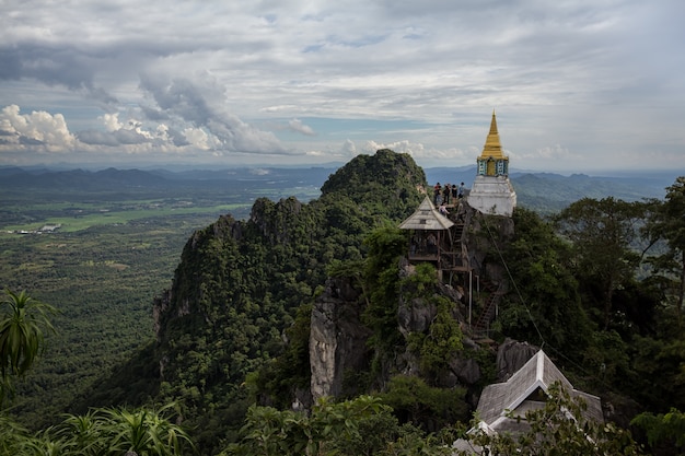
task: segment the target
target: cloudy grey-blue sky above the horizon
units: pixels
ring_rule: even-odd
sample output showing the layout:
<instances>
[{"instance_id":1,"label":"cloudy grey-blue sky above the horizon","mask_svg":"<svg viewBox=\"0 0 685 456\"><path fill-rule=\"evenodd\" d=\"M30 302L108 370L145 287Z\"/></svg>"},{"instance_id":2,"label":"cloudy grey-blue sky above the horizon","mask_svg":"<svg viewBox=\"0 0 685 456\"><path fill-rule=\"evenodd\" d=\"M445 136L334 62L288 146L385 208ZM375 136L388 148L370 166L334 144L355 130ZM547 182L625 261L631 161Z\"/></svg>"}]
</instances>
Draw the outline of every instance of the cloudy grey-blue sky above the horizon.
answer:
<instances>
[{"instance_id":1,"label":"cloudy grey-blue sky above the horizon","mask_svg":"<svg viewBox=\"0 0 685 456\"><path fill-rule=\"evenodd\" d=\"M682 0L0 0L0 165L685 169Z\"/></svg>"}]
</instances>

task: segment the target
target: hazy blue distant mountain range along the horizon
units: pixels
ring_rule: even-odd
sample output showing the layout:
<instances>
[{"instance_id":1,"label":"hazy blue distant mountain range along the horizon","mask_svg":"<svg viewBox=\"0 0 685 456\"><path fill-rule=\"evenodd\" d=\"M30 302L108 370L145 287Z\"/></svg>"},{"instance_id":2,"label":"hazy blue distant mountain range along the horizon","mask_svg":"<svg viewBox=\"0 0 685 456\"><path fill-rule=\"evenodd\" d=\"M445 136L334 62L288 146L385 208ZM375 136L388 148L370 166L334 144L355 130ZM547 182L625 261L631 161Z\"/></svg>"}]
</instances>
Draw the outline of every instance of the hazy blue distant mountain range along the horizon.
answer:
<instances>
[{"instance_id":1,"label":"hazy blue distant mountain range along the horizon","mask_svg":"<svg viewBox=\"0 0 685 456\"><path fill-rule=\"evenodd\" d=\"M125 191L127 188L270 188L321 187L335 167L245 167L227 169L117 169L102 171L22 168L0 166L2 190ZM429 185L474 180L475 166L425 168ZM677 172L623 176L588 176L513 172L510 175L520 206L541 212L557 211L581 198L614 197L627 201L663 198Z\"/></svg>"}]
</instances>

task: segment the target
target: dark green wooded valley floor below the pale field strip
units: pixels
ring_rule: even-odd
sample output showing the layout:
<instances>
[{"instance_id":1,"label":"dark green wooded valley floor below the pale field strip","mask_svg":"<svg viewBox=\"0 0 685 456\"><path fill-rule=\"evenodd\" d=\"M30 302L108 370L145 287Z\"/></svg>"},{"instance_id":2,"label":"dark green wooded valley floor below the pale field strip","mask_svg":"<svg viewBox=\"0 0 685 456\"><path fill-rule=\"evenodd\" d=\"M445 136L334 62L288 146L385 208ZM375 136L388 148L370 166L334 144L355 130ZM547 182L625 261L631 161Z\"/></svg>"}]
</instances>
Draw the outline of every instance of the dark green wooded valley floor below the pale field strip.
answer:
<instances>
[{"instance_id":1,"label":"dark green wooded valley floor below the pale field strip","mask_svg":"<svg viewBox=\"0 0 685 456\"><path fill-rule=\"evenodd\" d=\"M179 250L217 215L173 215L58 235L0 236L3 288L58 308L45 351L16 384L10 412L34 429L54 424L74 398L154 340L151 302Z\"/></svg>"}]
</instances>

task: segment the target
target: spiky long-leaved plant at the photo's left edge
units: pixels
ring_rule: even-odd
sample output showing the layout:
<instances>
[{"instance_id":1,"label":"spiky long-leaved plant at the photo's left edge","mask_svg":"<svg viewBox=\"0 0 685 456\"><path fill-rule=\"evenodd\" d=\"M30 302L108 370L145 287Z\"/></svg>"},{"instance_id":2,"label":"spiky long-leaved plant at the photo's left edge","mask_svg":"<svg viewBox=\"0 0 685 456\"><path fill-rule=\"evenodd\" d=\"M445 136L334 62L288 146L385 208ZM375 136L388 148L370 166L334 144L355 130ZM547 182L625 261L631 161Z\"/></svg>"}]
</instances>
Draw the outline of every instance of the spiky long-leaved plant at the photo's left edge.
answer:
<instances>
[{"instance_id":1,"label":"spiky long-leaved plant at the photo's left edge","mask_svg":"<svg viewBox=\"0 0 685 456\"><path fill-rule=\"evenodd\" d=\"M45 330L54 331L48 314L57 309L31 297L25 291L4 291L0 302L0 405L13 393L12 378L31 369L45 348Z\"/></svg>"}]
</instances>

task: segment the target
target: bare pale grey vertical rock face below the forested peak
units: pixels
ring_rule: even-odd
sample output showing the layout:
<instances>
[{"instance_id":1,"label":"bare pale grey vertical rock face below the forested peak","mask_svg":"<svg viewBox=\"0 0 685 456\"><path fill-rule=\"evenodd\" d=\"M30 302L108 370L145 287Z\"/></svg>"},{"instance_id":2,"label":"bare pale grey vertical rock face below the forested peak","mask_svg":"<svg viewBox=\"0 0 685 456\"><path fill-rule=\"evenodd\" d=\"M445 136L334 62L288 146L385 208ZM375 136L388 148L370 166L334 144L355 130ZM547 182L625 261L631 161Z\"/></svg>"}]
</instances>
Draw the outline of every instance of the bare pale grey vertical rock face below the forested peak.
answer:
<instances>
[{"instance_id":1,"label":"bare pale grey vertical rock face below the forested peak","mask_svg":"<svg viewBox=\"0 0 685 456\"><path fill-rule=\"evenodd\" d=\"M310 332L314 400L340 395L346 372L368 365L365 343L371 331L361 325L360 299L361 293L348 279L328 279L326 291L314 303Z\"/></svg>"}]
</instances>

